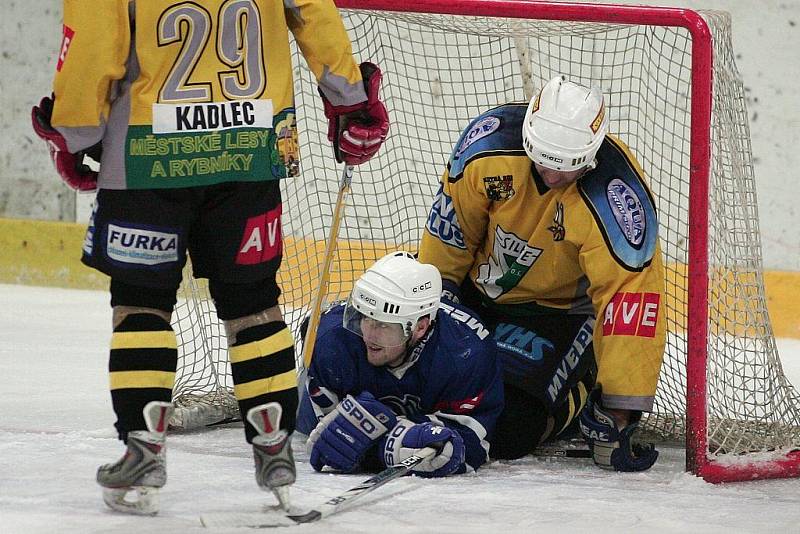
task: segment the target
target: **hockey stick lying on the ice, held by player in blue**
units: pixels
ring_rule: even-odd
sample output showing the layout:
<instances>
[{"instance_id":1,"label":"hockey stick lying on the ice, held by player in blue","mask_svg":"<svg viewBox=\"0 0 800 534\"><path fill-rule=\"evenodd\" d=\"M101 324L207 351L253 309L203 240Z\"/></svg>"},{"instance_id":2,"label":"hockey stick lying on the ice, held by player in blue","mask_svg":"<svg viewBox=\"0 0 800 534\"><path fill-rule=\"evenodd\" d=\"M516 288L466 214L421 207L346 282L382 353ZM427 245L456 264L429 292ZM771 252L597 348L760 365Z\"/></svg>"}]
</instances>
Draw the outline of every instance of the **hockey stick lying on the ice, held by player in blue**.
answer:
<instances>
[{"instance_id":1,"label":"hockey stick lying on the ice, held by player in blue","mask_svg":"<svg viewBox=\"0 0 800 534\"><path fill-rule=\"evenodd\" d=\"M353 486L344 493L328 499L316 508L305 513L232 513L232 514L203 514L200 522L204 527L248 527L248 528L274 528L314 523L335 513L341 512L353 504L356 499L378 489L389 481L400 478L408 473L414 466L426 458L436 454L436 449L425 447L417 454L409 456L399 464L387 467L377 475L368 478L361 484Z\"/></svg>"}]
</instances>

